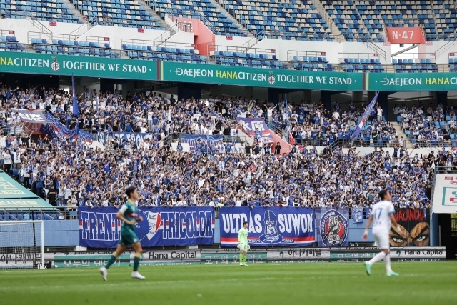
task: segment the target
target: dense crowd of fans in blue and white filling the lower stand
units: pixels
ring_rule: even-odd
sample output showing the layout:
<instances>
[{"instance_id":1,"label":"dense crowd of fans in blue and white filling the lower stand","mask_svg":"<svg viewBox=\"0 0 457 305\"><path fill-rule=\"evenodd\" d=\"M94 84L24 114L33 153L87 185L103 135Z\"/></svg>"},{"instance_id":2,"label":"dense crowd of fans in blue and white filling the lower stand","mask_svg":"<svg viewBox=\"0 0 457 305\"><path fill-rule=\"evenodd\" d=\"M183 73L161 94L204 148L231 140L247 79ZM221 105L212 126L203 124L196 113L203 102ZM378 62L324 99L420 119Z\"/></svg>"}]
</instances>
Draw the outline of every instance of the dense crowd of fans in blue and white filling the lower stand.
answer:
<instances>
[{"instance_id":1,"label":"dense crowd of fans in blue and white filling the lower stand","mask_svg":"<svg viewBox=\"0 0 457 305\"><path fill-rule=\"evenodd\" d=\"M418 208L429 206L426 194L434 168L457 169L452 150L409 156L398 145L395 129L382 120L379 107L371 124L352 143L368 146L373 141L379 147L360 155L353 148L348 153L341 149L349 144L345 139L363 111L352 103L349 111L341 111L338 104L328 111L321 103L304 101L298 106L284 102L261 106L253 98L210 96L197 101L85 91L79 96L81 115L76 118L66 92L1 88L0 114L6 118L0 131L4 170L16 171L24 185L57 206L119 206L125 187L134 184L141 192L139 206L366 207L376 203L378 190L386 188L397 206ZM105 132L106 149L48 136L31 139L25 129L11 137L11 128L21 126L11 111L14 107L48 110L70 129L79 124L80 129ZM265 117L268 124L290 131L306 144L326 148L318 152L316 146L309 150L293 146L291 154L282 156L245 144L191 152L179 146L177 151L171 149L169 135L173 134L233 135L236 116ZM154 136L151 141L119 143L110 136L115 131ZM382 149L386 145L395 147L392 155Z\"/></svg>"}]
</instances>

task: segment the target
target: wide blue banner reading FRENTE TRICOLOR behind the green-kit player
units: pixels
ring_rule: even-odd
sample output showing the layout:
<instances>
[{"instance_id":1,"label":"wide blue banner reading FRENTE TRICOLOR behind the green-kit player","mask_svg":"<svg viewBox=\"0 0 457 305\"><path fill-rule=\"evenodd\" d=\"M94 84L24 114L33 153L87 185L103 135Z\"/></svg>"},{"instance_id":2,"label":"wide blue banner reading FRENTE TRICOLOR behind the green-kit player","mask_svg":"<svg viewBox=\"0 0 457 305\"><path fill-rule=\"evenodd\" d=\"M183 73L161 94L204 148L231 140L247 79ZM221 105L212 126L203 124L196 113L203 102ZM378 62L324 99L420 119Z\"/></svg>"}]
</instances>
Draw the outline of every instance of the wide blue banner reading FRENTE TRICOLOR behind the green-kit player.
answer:
<instances>
[{"instance_id":1,"label":"wide blue banner reading FRENTE TRICOLOR behind the green-kit player","mask_svg":"<svg viewBox=\"0 0 457 305\"><path fill-rule=\"evenodd\" d=\"M79 245L89 248L116 248L121 237L119 209L80 207ZM141 246L191 246L214 244L214 209L139 208L143 221L136 224Z\"/></svg>"}]
</instances>

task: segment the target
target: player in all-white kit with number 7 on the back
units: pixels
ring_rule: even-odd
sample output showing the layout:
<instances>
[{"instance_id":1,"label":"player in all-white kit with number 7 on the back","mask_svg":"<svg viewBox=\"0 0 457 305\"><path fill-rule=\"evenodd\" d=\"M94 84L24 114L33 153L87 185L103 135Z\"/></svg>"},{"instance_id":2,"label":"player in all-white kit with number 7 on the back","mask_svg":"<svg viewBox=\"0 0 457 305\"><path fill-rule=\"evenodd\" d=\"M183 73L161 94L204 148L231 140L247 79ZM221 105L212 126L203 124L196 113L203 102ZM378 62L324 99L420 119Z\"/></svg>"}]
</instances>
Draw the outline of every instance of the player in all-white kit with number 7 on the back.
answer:
<instances>
[{"instance_id":1,"label":"player in all-white kit with number 7 on the back","mask_svg":"<svg viewBox=\"0 0 457 305\"><path fill-rule=\"evenodd\" d=\"M373 222L373 237L376 241L376 246L381 249L381 252L376 254L370 261L365 262L366 274L371 275L371 266L373 266L376 261L384 259L387 276L398 276L398 273L393 272L391 269L388 234L391 231L391 224L397 228L397 231L401 231L401 228L399 228L395 217L393 216L393 214L395 214L395 209L393 209L393 204L391 203L391 194L383 189L379 192L379 197L381 198L381 201L373 207L371 216L366 223L362 239L363 241L366 241L368 238L368 229L370 228L371 222Z\"/></svg>"}]
</instances>

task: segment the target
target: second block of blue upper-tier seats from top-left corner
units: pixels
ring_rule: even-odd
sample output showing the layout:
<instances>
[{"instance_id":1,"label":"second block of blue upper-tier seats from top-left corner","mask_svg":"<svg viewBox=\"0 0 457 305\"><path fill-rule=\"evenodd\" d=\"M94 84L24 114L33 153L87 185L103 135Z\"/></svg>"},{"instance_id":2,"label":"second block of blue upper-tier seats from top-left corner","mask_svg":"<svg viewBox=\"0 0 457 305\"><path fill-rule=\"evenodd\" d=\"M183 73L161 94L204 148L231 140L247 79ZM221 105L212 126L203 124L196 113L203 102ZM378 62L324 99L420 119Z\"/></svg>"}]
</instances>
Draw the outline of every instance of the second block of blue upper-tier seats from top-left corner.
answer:
<instances>
[{"instance_id":1,"label":"second block of blue upper-tier seats from top-left corner","mask_svg":"<svg viewBox=\"0 0 457 305\"><path fill-rule=\"evenodd\" d=\"M143 6L131 0L73 0L73 4L94 24L108 26L141 27L144 29L164 29L154 16Z\"/></svg>"}]
</instances>

